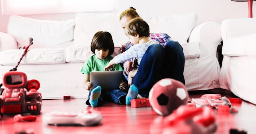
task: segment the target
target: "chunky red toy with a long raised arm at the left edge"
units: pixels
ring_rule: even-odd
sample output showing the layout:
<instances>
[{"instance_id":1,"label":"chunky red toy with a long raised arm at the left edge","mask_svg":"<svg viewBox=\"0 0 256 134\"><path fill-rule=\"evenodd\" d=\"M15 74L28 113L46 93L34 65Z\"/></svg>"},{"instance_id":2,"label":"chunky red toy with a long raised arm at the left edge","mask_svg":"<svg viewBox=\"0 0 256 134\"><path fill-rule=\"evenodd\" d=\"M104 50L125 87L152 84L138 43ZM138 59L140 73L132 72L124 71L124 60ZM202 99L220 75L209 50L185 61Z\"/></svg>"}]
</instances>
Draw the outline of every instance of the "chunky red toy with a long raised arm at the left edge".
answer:
<instances>
[{"instance_id":1,"label":"chunky red toy with a long raised arm at the left edge","mask_svg":"<svg viewBox=\"0 0 256 134\"><path fill-rule=\"evenodd\" d=\"M40 114L42 106L42 95L37 92L40 83L37 80L27 81L27 75L18 72L17 67L26 54L28 47L33 44L29 38L29 45L25 47L22 57L14 69L5 73L3 83L6 89L0 96L0 114Z\"/></svg>"}]
</instances>

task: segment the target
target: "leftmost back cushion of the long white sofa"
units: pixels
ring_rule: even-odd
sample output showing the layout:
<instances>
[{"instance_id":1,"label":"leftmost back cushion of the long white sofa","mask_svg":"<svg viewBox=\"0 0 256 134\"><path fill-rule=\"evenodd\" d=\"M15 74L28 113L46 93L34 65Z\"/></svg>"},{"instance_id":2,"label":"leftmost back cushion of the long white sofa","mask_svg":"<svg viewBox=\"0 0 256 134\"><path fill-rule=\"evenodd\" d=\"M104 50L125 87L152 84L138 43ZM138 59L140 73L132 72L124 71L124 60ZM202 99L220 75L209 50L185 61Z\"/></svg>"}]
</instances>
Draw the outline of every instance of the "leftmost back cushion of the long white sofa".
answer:
<instances>
[{"instance_id":1,"label":"leftmost back cushion of the long white sofa","mask_svg":"<svg viewBox=\"0 0 256 134\"><path fill-rule=\"evenodd\" d=\"M7 32L14 36L18 48L28 45L29 37L34 39L30 48L53 48L73 40L74 26L74 20L51 21L10 16Z\"/></svg>"}]
</instances>

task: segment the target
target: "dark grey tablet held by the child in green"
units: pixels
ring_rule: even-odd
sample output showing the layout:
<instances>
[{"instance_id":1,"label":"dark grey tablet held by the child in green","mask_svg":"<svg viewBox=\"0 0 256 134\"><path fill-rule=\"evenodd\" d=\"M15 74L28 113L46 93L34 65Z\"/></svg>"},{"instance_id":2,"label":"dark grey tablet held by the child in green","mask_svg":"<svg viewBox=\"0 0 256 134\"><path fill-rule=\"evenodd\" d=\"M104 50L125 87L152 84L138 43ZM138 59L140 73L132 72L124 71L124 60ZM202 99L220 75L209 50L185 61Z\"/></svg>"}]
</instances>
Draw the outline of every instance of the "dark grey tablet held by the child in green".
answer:
<instances>
[{"instance_id":1,"label":"dark grey tablet held by the child in green","mask_svg":"<svg viewBox=\"0 0 256 134\"><path fill-rule=\"evenodd\" d=\"M102 91L112 91L120 89L123 80L123 71L92 71L90 72L90 82L92 89L100 86ZM91 90L92 90L91 89Z\"/></svg>"}]
</instances>

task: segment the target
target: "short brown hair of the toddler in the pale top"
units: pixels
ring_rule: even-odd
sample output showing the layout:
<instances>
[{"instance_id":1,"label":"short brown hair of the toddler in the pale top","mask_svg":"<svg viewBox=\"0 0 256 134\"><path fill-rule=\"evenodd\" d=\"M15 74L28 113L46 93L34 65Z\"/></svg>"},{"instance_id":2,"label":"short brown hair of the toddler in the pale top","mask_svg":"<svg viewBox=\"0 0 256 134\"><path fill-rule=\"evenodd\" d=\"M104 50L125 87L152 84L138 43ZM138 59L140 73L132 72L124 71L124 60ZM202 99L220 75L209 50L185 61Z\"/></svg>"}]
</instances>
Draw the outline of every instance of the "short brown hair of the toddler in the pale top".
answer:
<instances>
[{"instance_id":1,"label":"short brown hair of the toddler in the pale top","mask_svg":"<svg viewBox=\"0 0 256 134\"><path fill-rule=\"evenodd\" d=\"M135 34L138 34L139 37L149 37L149 26L147 22L142 20L142 18L137 17L132 20L127 24L125 27L125 33L126 35L132 35L135 36Z\"/></svg>"}]
</instances>

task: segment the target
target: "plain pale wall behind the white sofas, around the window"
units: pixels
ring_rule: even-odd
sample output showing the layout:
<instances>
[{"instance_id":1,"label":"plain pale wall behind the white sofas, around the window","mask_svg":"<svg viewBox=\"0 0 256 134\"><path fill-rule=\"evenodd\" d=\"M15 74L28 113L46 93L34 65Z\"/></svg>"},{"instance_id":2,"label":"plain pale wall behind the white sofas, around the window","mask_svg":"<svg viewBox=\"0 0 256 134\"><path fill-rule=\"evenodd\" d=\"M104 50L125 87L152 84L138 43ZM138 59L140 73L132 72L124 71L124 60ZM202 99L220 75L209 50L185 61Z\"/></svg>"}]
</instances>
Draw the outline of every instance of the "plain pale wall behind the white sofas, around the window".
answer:
<instances>
[{"instance_id":1,"label":"plain pale wall behind the white sofas, around the window","mask_svg":"<svg viewBox=\"0 0 256 134\"><path fill-rule=\"evenodd\" d=\"M1 1L0 1L1 2ZM0 3L1 4L1 3ZM194 12L198 15L198 22L222 22L228 18L247 18L247 2L233 2L231 0L115 0L118 13L133 6L140 15L167 15ZM0 7L0 11L1 11ZM253 3L253 15L256 16L256 2ZM66 14L38 14L21 15L41 20L66 20L74 18L74 13ZM0 32L7 32L9 16L0 14Z\"/></svg>"}]
</instances>

